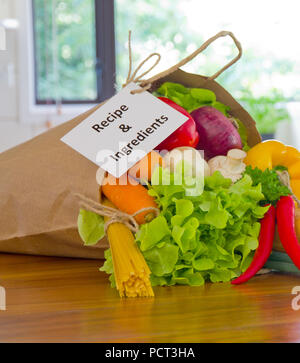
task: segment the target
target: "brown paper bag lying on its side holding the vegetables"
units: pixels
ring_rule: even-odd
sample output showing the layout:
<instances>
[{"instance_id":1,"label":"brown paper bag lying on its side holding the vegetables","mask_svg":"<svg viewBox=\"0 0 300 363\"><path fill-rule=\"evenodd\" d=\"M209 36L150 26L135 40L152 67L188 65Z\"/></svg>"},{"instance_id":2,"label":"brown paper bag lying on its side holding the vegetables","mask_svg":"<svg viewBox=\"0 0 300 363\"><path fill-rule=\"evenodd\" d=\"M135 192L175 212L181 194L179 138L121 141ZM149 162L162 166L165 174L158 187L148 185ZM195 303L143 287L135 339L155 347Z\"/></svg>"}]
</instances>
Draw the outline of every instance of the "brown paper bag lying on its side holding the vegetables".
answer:
<instances>
[{"instance_id":1,"label":"brown paper bag lying on its side holding the vegetables","mask_svg":"<svg viewBox=\"0 0 300 363\"><path fill-rule=\"evenodd\" d=\"M165 81L212 90L218 101L230 107L232 116L244 123L249 145L260 142L253 119L216 81L174 69L156 77L151 90ZM98 201L98 167L60 141L98 107L101 105L0 154L1 252L103 258L105 239L96 246L83 246L77 232L79 205L74 196L80 193Z\"/></svg>"}]
</instances>

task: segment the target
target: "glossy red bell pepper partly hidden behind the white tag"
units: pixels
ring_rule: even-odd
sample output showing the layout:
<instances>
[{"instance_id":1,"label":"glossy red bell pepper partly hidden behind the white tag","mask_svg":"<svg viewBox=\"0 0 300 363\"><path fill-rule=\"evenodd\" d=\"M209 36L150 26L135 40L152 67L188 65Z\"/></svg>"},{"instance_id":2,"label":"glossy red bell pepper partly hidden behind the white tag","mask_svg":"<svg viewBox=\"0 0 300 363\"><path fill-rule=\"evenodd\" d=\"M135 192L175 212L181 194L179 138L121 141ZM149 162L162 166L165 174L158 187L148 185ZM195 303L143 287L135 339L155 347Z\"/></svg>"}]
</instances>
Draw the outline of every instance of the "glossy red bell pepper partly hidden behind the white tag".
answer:
<instances>
[{"instance_id":1,"label":"glossy red bell pepper partly hidden behind the white tag","mask_svg":"<svg viewBox=\"0 0 300 363\"><path fill-rule=\"evenodd\" d=\"M181 125L176 131L168 136L163 142L161 142L155 150L173 150L176 147L190 146L196 147L199 142L199 134L196 129L196 123L192 116L177 103L169 100L166 97L158 97L161 101L167 103L169 106L175 108L177 111L183 113L189 119Z\"/></svg>"}]
</instances>

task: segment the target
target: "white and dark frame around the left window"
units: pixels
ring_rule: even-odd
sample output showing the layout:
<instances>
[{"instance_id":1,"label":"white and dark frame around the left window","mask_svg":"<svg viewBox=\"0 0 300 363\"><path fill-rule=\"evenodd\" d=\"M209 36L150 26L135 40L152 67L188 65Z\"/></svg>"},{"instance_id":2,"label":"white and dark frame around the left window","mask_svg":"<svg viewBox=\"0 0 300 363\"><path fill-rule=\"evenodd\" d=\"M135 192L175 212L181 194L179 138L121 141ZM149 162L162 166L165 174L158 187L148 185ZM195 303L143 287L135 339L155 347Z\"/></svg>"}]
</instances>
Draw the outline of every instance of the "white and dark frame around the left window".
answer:
<instances>
[{"instance_id":1,"label":"white and dark frame around the left window","mask_svg":"<svg viewBox=\"0 0 300 363\"><path fill-rule=\"evenodd\" d=\"M59 108L56 104L36 103L32 0L22 0L16 7L16 15L20 22L17 45L18 54L21 55L18 57L18 117L20 123L32 124L39 132L39 125L49 120L53 125L65 122L115 94L114 0L95 0L95 4L95 13L97 12L98 15L96 17L98 19L98 23L96 21L96 57L98 59L96 69L97 72L102 73L102 79L97 77L97 82L103 82L103 86L106 86L103 87L100 97L95 101L63 103L59 105ZM102 11L106 11L108 16L104 16ZM101 19L106 29L104 34L99 33L99 28L97 28ZM109 43L113 46L109 46ZM97 87L99 87L98 84Z\"/></svg>"}]
</instances>

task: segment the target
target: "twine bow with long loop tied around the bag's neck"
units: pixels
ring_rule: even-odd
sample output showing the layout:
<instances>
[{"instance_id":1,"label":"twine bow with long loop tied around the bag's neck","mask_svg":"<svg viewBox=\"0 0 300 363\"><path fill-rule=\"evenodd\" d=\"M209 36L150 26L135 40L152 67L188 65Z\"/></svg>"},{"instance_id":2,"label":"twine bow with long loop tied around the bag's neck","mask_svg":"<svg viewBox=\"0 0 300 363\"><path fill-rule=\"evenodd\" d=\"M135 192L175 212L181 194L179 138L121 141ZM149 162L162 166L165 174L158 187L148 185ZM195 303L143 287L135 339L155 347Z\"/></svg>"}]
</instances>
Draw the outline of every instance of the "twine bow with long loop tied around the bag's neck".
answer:
<instances>
[{"instance_id":1,"label":"twine bow with long loop tied around the bag's neck","mask_svg":"<svg viewBox=\"0 0 300 363\"><path fill-rule=\"evenodd\" d=\"M229 31L220 31L219 33L217 33L216 35L214 35L213 37L209 38L206 42L204 42L198 49L196 49L193 53L191 53L189 56L187 56L186 58L182 59L180 62L178 62L177 64L175 64L174 66L166 69L163 72L160 72L158 74L156 74L155 76L149 78L148 80L143 80L142 78L148 74L154 67L157 66L157 64L160 62L161 60L161 55L159 53L151 53L147 58L145 58L136 68L136 70L132 73L132 49L131 49L131 31L129 31L129 35L128 35L128 52L129 52L129 71L128 71L128 75L127 75L127 79L126 82L123 84L123 87L127 86L129 83L131 82L135 82L138 83L140 85L141 88L138 88L136 90L132 90L131 93L135 94L135 93L142 93L144 91L147 91L149 88L151 88L153 82L157 81L160 78L166 77L169 74L175 72L176 70L178 70L180 67L184 66L185 64L189 63L192 59L194 59L198 54L202 53L211 43L213 43L215 40L221 38L221 37L226 37L229 36L231 37L231 39L234 41L234 44L236 45L237 49L238 49L238 55L232 59L229 63L227 63L223 68L221 68L218 72L216 72L214 75L212 75L211 77L208 77L208 80L214 80L216 79L220 74L222 74L226 69L228 69L229 67L231 67L234 63L236 63L242 56L242 46L241 43L236 39L236 37L234 36L233 33L229 32ZM144 73L142 73L140 76L137 76L137 73L139 72L139 70L142 68L142 66L148 62L149 59L151 59L152 57L157 56L157 60L155 61L155 63L148 68L148 70L146 70Z\"/></svg>"}]
</instances>

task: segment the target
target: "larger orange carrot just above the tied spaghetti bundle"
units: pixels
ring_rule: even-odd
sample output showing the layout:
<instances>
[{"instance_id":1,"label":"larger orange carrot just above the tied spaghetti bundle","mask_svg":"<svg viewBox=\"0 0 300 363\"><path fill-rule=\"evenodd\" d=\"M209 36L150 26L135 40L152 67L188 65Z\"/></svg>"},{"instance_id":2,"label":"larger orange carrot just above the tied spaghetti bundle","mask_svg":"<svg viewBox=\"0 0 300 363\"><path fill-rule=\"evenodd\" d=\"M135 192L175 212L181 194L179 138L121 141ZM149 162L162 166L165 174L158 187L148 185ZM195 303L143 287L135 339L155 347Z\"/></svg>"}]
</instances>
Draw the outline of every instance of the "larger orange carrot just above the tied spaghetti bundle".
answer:
<instances>
[{"instance_id":1,"label":"larger orange carrot just above the tied spaghetti bundle","mask_svg":"<svg viewBox=\"0 0 300 363\"><path fill-rule=\"evenodd\" d=\"M123 182L124 178L122 178L122 182L120 182L120 179L108 175L101 187L102 193L119 210L128 214L133 214L147 207L158 208L154 198L148 194L145 187L137 184L130 176L127 177L126 185L123 185ZM155 213L150 210L139 213L135 217L135 220L139 224L142 224L149 222L154 217Z\"/></svg>"}]
</instances>

